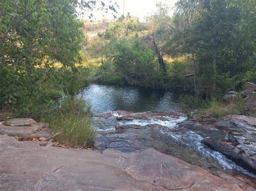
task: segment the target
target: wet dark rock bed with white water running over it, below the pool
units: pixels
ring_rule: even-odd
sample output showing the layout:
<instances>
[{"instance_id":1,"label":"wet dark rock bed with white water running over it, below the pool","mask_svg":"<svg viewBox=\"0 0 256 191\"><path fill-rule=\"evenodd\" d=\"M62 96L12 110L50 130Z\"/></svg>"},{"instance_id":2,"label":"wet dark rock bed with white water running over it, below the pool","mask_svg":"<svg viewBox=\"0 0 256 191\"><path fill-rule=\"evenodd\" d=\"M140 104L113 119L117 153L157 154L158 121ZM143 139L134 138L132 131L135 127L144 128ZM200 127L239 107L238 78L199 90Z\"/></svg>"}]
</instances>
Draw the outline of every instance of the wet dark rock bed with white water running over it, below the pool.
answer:
<instances>
[{"instance_id":1,"label":"wet dark rock bed with white water running over it, below the pool","mask_svg":"<svg viewBox=\"0 0 256 191\"><path fill-rule=\"evenodd\" d=\"M256 178L256 118L233 115L188 120L177 112L126 111L93 118L100 128L96 150L139 153L154 148L213 174Z\"/></svg>"}]
</instances>

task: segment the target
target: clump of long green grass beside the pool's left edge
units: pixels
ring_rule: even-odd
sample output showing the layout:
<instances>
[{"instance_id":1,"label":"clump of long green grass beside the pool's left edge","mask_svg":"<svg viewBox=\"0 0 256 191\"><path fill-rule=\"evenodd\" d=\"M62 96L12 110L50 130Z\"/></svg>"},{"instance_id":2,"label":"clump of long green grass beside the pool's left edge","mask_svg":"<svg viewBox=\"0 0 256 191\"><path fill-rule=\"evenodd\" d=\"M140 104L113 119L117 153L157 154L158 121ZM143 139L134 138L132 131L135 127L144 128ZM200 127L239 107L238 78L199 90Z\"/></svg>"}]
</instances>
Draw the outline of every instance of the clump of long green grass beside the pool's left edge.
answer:
<instances>
[{"instance_id":1,"label":"clump of long green grass beside the pool's left edge","mask_svg":"<svg viewBox=\"0 0 256 191\"><path fill-rule=\"evenodd\" d=\"M71 147L91 147L96 129L91 122L91 107L82 97L62 91L61 107L45 118L55 132L54 140Z\"/></svg>"}]
</instances>

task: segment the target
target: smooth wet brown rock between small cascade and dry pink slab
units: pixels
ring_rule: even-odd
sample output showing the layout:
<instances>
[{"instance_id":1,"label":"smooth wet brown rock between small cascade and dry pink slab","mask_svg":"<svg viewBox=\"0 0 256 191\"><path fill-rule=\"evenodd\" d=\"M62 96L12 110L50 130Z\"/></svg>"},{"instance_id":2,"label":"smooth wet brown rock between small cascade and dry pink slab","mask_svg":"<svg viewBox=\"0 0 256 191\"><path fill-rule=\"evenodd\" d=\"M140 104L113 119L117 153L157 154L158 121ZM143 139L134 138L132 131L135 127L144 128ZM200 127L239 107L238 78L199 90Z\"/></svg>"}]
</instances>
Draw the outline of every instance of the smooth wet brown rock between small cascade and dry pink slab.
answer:
<instances>
[{"instance_id":1,"label":"smooth wet brown rock between small cascade and dry pink slab","mask_svg":"<svg viewBox=\"0 0 256 191\"><path fill-rule=\"evenodd\" d=\"M169 129L158 124L145 126L127 124L116 126L115 131L99 132L96 136L95 148L98 151L112 149L130 153L138 153L147 148L154 148L157 151L171 154L190 162L190 164L199 165L211 171L221 168L214 159L205 159L201 156L201 153L195 153L190 147L186 146L183 141L189 141L189 138L190 132L184 128Z\"/></svg>"}]
</instances>

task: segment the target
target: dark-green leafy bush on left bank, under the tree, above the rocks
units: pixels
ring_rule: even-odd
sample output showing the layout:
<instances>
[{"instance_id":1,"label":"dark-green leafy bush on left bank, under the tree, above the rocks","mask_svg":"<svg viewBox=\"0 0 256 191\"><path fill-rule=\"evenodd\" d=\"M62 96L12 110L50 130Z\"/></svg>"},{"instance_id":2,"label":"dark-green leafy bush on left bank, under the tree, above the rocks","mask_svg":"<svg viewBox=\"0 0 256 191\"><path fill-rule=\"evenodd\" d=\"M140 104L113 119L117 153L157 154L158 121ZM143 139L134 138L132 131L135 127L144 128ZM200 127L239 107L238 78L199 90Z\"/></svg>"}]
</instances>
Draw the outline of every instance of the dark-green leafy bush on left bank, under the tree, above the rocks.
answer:
<instances>
[{"instance_id":1,"label":"dark-green leafy bush on left bank, under the tree, above the rocks","mask_svg":"<svg viewBox=\"0 0 256 191\"><path fill-rule=\"evenodd\" d=\"M34 68L29 75L23 73L0 66L0 109L15 112L17 117L48 115L61 97L61 89L75 95L87 85L87 69L83 67Z\"/></svg>"}]
</instances>

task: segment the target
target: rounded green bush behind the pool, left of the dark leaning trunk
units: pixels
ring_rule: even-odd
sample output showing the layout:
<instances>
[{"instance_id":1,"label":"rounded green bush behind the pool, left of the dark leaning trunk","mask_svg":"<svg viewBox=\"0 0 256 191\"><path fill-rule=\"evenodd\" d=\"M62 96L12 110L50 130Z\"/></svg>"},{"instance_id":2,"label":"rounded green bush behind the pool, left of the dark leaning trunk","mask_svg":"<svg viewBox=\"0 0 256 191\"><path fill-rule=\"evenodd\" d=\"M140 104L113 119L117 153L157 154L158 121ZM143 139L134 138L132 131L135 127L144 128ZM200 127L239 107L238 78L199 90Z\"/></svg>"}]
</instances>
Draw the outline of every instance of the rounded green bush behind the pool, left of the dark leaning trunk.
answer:
<instances>
[{"instance_id":1,"label":"rounded green bush behind the pool, left of the dark leaning trunk","mask_svg":"<svg viewBox=\"0 0 256 191\"><path fill-rule=\"evenodd\" d=\"M151 88L163 83L163 71L158 68L154 52L138 38L116 41L112 52L117 72L128 83Z\"/></svg>"}]
</instances>

